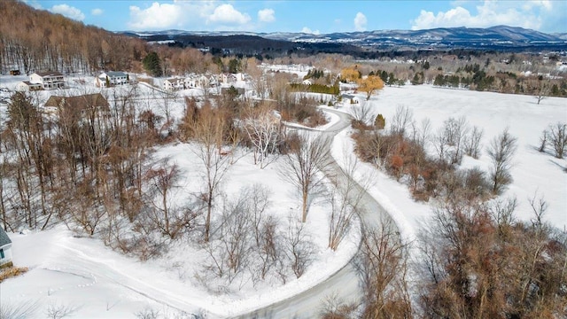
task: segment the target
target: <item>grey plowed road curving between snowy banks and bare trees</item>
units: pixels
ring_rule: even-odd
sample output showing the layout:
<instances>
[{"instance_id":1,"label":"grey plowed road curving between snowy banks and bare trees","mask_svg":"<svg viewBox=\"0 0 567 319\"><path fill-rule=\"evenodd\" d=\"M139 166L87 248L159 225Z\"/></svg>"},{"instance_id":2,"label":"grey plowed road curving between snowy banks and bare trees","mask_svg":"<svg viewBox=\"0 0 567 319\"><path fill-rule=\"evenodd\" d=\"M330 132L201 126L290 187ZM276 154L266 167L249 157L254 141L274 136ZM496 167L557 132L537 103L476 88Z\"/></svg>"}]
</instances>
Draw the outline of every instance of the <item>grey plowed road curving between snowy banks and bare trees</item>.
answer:
<instances>
[{"instance_id":1,"label":"grey plowed road curving between snowy banks and bare trees","mask_svg":"<svg viewBox=\"0 0 567 319\"><path fill-rule=\"evenodd\" d=\"M330 140L338 134L338 132L350 126L351 116L332 109L325 108L325 112L338 115L340 121L327 128L322 134L328 135ZM330 144L328 145L330 147ZM353 182L351 176L339 167L337 161L330 157L330 169L324 172L327 176L333 176L338 179L338 183L354 183L355 189L361 195L362 212L359 214L361 218L362 229L369 227L377 227L381 221L390 219L390 215L384 210L384 207L372 198L358 183ZM395 223L391 223L395 225ZM268 307L262 307L237 318L314 318L320 314L322 305L330 296L336 296L340 300L359 300L361 298L361 289L359 284L359 276L353 267L352 262L346 264L330 276L327 280L305 292L301 292L287 300L277 301Z\"/></svg>"}]
</instances>

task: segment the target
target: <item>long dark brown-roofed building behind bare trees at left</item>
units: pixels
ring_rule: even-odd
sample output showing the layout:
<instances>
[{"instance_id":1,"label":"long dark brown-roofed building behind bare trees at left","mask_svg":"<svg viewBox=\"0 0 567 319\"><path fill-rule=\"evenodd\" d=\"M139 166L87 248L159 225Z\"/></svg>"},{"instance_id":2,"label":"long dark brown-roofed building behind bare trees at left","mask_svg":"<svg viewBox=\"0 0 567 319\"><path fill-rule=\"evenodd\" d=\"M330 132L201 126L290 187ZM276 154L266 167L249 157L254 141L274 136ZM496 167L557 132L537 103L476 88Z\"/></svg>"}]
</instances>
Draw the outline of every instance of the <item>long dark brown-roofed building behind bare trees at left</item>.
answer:
<instances>
[{"instance_id":1,"label":"long dark brown-roofed building behind bare trees at left","mask_svg":"<svg viewBox=\"0 0 567 319\"><path fill-rule=\"evenodd\" d=\"M46 109L81 118L91 114L110 113L108 101L106 101L106 98L100 93L75 97L50 96L43 106Z\"/></svg>"}]
</instances>

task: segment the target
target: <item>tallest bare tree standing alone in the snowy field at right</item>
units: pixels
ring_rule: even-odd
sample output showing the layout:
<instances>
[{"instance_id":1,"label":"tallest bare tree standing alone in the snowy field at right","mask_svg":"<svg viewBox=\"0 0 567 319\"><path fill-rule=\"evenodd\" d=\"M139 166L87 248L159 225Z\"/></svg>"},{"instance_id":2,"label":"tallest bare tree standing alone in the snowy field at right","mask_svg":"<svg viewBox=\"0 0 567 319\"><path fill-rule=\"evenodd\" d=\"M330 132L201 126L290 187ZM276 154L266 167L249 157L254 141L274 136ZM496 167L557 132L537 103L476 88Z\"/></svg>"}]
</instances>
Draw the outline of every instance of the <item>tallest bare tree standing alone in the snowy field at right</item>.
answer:
<instances>
[{"instance_id":1,"label":"tallest bare tree standing alone in the snowy field at right","mask_svg":"<svg viewBox=\"0 0 567 319\"><path fill-rule=\"evenodd\" d=\"M506 185L512 183L510 169L512 158L517 149L517 138L510 136L508 128L504 129L500 136L493 138L487 149L488 156L492 160L493 167L490 172L493 194L500 194Z\"/></svg>"}]
</instances>

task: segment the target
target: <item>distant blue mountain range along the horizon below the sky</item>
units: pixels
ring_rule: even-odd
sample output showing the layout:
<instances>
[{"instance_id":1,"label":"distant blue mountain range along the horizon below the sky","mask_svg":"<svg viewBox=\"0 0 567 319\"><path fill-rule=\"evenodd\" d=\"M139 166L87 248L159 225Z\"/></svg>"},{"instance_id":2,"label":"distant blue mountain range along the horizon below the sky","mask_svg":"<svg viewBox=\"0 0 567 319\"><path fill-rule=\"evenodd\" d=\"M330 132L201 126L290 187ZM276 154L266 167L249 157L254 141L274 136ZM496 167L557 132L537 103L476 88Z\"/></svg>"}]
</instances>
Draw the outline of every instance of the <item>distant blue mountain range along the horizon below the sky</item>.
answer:
<instances>
[{"instance_id":1,"label":"distant blue mountain range along the horizon below the sky","mask_svg":"<svg viewBox=\"0 0 567 319\"><path fill-rule=\"evenodd\" d=\"M530 51L530 50L556 50L567 51L567 34L549 35L523 27L438 27L424 30L376 30L364 32L338 32L325 35L306 33L253 33L253 32L191 32L183 30L166 30L153 32L125 32L136 35L147 41L176 40L185 45L198 47L231 48L223 45L224 40L235 36L260 37L274 40L283 49L288 45L284 42L296 43L291 47L309 48L332 44L334 48L346 46L348 50L353 47L363 51L387 50L447 50L447 49L476 49L496 51ZM200 38L199 38L200 37ZM186 41L190 39L190 41ZM206 41L198 41L206 39ZM250 38L248 39L250 40ZM260 41L261 42L261 41ZM199 43L199 44L197 44ZM234 43L234 41L230 41ZM265 44L269 45L269 42ZM323 45L324 46L324 45ZM260 49L260 48L256 48ZM323 50L324 51L324 50Z\"/></svg>"}]
</instances>

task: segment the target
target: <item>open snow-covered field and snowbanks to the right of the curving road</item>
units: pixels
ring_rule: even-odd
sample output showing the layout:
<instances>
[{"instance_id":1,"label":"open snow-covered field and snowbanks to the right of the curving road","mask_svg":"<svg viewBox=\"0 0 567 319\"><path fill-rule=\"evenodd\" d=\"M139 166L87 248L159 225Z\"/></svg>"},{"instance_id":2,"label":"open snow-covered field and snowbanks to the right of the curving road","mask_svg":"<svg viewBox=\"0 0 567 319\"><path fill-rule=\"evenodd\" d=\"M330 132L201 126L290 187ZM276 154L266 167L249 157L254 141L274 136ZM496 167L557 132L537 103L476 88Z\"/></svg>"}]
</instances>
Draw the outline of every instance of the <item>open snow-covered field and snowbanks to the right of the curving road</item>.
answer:
<instances>
[{"instance_id":1,"label":"open snow-covered field and snowbanks to the right of the curving road","mask_svg":"<svg viewBox=\"0 0 567 319\"><path fill-rule=\"evenodd\" d=\"M559 230L567 228L567 159L556 159L551 151L538 152L541 132L549 124L567 123L567 99L547 97L537 104L532 96L478 92L462 89L442 89L429 85L386 87L369 101L373 112L382 113L388 122L396 109L406 106L413 112L414 120L419 123L429 118L432 133L443 125L449 117L455 119L465 116L470 126L484 129L482 140L483 152L479 159L466 157L463 167L480 167L488 171L490 160L485 147L494 136L509 128L509 133L517 137L517 152L511 174L514 178L503 198L517 198L515 211L518 219L529 221L532 207L528 200L544 198L548 211L544 220ZM347 110L345 110L347 111ZM348 131L340 133L334 142L333 156L340 163L341 154L353 154L353 143ZM370 194L381 203L400 230L408 238L414 237L423 222L431 216L431 206L416 202L410 198L408 188L397 183L383 172L375 172L369 164L360 166L359 179L377 175L377 181L370 188Z\"/></svg>"}]
</instances>

